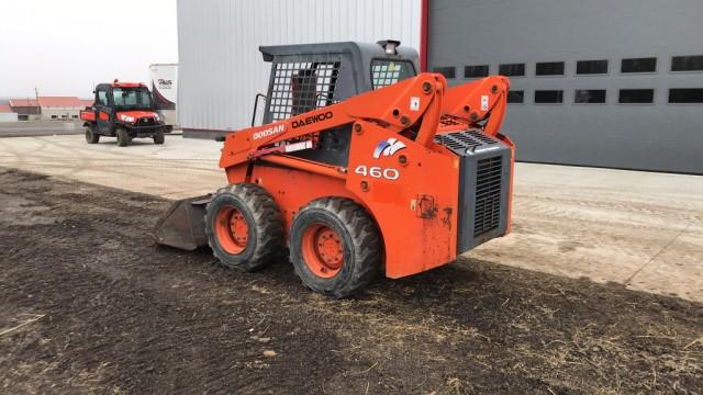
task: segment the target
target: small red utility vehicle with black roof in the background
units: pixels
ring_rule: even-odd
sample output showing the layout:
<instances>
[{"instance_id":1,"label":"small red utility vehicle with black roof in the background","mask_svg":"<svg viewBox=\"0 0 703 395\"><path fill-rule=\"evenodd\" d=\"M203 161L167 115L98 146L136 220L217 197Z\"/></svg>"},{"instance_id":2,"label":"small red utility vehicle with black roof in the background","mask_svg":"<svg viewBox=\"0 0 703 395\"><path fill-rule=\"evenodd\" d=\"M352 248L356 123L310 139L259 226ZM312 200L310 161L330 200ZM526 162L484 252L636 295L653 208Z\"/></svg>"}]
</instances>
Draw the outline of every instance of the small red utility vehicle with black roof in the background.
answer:
<instances>
[{"instance_id":1,"label":"small red utility vehicle with black roof in the background","mask_svg":"<svg viewBox=\"0 0 703 395\"><path fill-rule=\"evenodd\" d=\"M114 80L98 84L94 93L93 105L80 112L88 144L98 143L100 136L118 137L120 147L135 137L164 144L164 133L171 132L171 126L165 125L156 112L152 93L144 83Z\"/></svg>"}]
</instances>

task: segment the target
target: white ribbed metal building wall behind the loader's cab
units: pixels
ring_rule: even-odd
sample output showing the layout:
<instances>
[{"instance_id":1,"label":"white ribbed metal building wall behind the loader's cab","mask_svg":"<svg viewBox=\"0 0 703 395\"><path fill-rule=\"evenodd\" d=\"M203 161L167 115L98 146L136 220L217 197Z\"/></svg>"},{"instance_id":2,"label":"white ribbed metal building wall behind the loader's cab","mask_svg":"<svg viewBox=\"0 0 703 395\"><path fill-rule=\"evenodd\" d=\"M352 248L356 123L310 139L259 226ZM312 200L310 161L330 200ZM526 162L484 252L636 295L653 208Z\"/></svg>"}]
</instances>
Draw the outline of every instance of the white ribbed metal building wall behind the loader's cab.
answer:
<instances>
[{"instance_id":1,"label":"white ribbed metal building wall behind the loader's cab","mask_svg":"<svg viewBox=\"0 0 703 395\"><path fill-rule=\"evenodd\" d=\"M185 134L252 122L270 64L260 45L400 40L420 48L421 0L178 0L178 120Z\"/></svg>"}]
</instances>

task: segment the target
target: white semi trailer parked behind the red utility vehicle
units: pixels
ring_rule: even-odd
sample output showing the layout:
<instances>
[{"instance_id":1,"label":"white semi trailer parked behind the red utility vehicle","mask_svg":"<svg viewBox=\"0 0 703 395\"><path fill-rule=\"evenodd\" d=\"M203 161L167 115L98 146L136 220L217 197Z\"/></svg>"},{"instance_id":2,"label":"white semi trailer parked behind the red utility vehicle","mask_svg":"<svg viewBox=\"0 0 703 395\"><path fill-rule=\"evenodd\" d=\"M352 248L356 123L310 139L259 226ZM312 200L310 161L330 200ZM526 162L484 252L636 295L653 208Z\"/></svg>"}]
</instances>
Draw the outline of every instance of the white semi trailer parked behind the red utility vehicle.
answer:
<instances>
[{"instance_id":1,"label":"white semi trailer parked behind the red utility vehicle","mask_svg":"<svg viewBox=\"0 0 703 395\"><path fill-rule=\"evenodd\" d=\"M167 125L177 125L178 64L150 65L149 82L156 110Z\"/></svg>"}]
</instances>

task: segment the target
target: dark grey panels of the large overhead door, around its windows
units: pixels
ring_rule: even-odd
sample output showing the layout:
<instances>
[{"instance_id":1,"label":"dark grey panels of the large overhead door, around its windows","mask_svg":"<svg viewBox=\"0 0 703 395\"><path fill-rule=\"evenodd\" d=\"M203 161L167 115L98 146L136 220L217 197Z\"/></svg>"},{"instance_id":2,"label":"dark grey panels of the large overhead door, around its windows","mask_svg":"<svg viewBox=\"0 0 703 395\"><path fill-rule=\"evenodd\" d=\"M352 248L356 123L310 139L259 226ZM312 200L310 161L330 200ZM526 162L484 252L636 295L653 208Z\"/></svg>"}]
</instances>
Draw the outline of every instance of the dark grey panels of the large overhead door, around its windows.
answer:
<instances>
[{"instance_id":1,"label":"dark grey panels of the large overhead door, around its windows","mask_svg":"<svg viewBox=\"0 0 703 395\"><path fill-rule=\"evenodd\" d=\"M703 104L669 104L670 88L703 88L703 71L671 71L671 58L703 55L700 0L434 0L428 69L524 63L511 78L524 104L509 105L503 132L517 159L703 173ZM622 74L623 58L657 57L657 70ZM605 75L577 76L579 60L607 59ZM563 76L536 77L540 61ZM621 89L655 89L654 104L618 104ZM604 104L576 104L577 89L604 89ZM562 90L562 104L535 104L535 90Z\"/></svg>"}]
</instances>

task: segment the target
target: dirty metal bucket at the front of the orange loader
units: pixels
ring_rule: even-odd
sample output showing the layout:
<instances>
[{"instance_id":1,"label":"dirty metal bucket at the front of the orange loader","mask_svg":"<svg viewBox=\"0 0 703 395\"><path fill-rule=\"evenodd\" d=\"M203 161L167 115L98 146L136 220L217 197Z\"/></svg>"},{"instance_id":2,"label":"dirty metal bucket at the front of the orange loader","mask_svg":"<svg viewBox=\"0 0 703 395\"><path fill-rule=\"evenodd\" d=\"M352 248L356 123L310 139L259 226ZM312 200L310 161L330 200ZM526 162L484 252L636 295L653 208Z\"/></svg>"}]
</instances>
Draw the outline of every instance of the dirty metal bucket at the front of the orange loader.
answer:
<instances>
[{"instance_id":1,"label":"dirty metal bucket at the front of the orange loader","mask_svg":"<svg viewBox=\"0 0 703 395\"><path fill-rule=\"evenodd\" d=\"M174 202L156 223L156 244L192 251L208 245L205 236L205 205L210 195Z\"/></svg>"}]
</instances>

